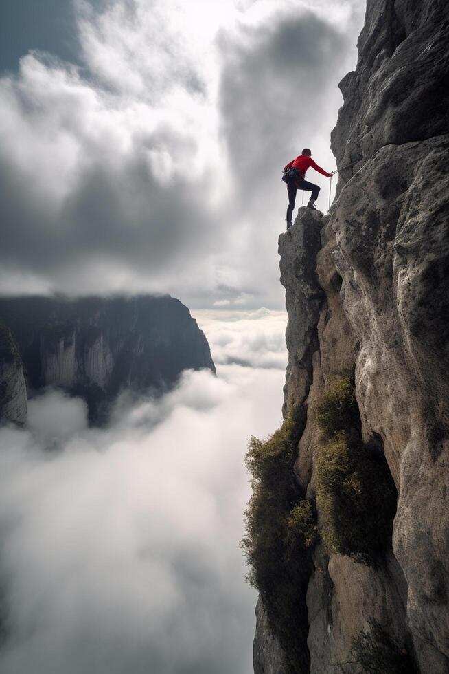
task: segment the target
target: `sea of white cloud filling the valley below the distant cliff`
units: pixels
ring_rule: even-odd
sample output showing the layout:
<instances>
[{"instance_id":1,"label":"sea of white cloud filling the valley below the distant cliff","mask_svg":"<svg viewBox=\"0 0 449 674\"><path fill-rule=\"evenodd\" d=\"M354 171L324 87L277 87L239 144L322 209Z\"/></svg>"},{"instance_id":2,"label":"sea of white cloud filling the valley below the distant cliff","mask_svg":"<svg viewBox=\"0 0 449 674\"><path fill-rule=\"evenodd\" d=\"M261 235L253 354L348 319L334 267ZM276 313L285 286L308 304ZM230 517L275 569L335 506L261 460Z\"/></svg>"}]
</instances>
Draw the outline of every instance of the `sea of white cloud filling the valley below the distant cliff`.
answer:
<instances>
[{"instance_id":1,"label":"sea of white cloud filling the valley below the distant cliff","mask_svg":"<svg viewBox=\"0 0 449 674\"><path fill-rule=\"evenodd\" d=\"M48 393L30 428L0 431L3 674L250 670L243 455L278 425L284 373L219 374L122 401L107 429L88 430L79 400Z\"/></svg>"}]
</instances>

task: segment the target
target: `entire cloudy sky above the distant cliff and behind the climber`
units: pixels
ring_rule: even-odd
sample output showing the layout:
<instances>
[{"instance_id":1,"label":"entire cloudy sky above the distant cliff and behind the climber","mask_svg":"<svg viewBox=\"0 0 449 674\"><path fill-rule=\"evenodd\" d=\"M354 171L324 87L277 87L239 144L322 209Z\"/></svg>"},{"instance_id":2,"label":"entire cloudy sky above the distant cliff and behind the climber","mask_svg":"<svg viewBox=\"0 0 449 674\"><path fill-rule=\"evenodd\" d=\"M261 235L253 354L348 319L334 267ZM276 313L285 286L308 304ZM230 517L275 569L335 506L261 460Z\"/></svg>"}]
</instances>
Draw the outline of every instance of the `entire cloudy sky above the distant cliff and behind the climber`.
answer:
<instances>
[{"instance_id":1,"label":"entire cloudy sky above the distant cliff and behind the climber","mask_svg":"<svg viewBox=\"0 0 449 674\"><path fill-rule=\"evenodd\" d=\"M281 168L330 171L363 0L5 0L0 292L281 309ZM327 210L329 180L312 170ZM301 201L299 195L298 202Z\"/></svg>"}]
</instances>

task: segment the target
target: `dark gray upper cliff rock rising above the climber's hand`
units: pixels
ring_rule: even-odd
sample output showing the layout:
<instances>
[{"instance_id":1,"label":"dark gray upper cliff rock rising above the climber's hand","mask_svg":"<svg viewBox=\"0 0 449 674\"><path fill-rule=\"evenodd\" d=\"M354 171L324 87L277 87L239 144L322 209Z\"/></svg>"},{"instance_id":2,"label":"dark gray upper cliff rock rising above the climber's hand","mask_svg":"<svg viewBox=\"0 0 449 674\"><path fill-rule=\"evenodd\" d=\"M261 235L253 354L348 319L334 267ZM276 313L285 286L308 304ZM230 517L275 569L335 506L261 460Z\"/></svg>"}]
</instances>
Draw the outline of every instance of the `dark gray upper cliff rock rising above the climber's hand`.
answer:
<instances>
[{"instance_id":1,"label":"dark gray upper cliff rock rising above the climber's hand","mask_svg":"<svg viewBox=\"0 0 449 674\"><path fill-rule=\"evenodd\" d=\"M447 133L448 6L444 0L368 0L358 65L341 82L332 132L343 180L387 144ZM341 188L341 184L340 184Z\"/></svg>"}]
</instances>

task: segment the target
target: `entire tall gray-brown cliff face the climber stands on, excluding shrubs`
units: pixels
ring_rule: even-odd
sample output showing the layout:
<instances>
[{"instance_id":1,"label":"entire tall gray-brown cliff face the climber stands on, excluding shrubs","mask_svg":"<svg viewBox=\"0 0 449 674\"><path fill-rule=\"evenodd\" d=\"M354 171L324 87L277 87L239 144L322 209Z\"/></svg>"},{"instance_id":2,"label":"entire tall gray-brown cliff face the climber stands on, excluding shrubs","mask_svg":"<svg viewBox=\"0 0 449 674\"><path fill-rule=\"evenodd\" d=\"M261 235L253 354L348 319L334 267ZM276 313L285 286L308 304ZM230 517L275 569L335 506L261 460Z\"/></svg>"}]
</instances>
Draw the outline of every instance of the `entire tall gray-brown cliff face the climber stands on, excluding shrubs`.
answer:
<instances>
[{"instance_id":1,"label":"entire tall gray-brown cliff face the climber stands on, excluding shrubs","mask_svg":"<svg viewBox=\"0 0 449 674\"><path fill-rule=\"evenodd\" d=\"M417 671L449 672L448 28L447 3L368 0L332 132L336 201L325 217L300 209L279 237L284 412L311 411L334 378L354 376L363 439L398 490L378 568L314 549L312 674L342 671L369 620L406 646ZM312 500L318 453L310 413L295 471ZM255 673L269 666L266 649Z\"/></svg>"}]
</instances>

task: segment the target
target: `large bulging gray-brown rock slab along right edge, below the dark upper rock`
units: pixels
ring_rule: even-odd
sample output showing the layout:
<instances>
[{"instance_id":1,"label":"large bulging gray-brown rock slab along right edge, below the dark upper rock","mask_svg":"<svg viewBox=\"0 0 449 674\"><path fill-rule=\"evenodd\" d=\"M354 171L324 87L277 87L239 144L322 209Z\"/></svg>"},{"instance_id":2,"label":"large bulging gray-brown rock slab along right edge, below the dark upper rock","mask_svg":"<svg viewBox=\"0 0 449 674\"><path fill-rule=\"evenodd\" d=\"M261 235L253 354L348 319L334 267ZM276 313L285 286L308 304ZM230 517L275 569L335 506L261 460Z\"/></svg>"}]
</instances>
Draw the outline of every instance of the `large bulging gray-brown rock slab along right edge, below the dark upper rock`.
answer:
<instances>
[{"instance_id":1,"label":"large bulging gray-brown rock slab along right edge, below the dark upper rock","mask_svg":"<svg viewBox=\"0 0 449 674\"><path fill-rule=\"evenodd\" d=\"M418 44L415 33L408 48ZM401 105L413 116L413 97ZM424 666L430 651L449 657L449 136L404 142L388 127L381 140L370 148L358 138L366 161L341 189L332 227L344 261L342 304L360 344L365 436L382 438L399 488L393 550ZM435 672L446 671L442 662Z\"/></svg>"}]
</instances>

